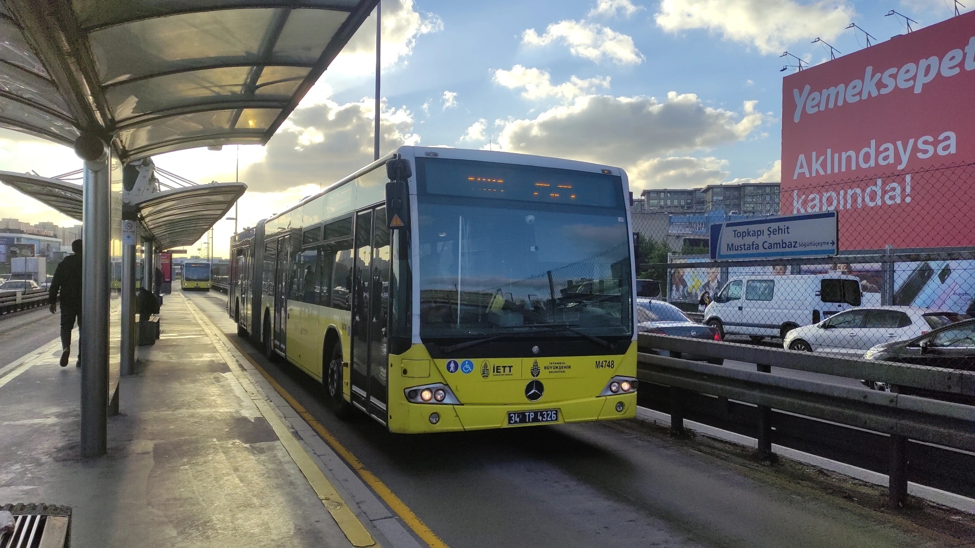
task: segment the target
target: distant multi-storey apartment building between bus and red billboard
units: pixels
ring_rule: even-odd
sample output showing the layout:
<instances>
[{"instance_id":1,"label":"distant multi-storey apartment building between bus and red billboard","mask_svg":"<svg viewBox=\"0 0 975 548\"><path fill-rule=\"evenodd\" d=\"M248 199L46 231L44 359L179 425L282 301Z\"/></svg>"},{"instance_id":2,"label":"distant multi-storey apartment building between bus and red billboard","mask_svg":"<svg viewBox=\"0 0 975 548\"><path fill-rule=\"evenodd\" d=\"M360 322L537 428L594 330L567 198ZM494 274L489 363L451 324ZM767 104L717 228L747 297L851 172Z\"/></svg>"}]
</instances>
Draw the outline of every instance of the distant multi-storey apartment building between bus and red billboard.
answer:
<instances>
[{"instance_id":1,"label":"distant multi-storey apartment building between bus and red billboard","mask_svg":"<svg viewBox=\"0 0 975 548\"><path fill-rule=\"evenodd\" d=\"M725 215L778 215L778 182L709 184L698 188L652 188L634 200L633 211L692 215L722 210Z\"/></svg>"}]
</instances>

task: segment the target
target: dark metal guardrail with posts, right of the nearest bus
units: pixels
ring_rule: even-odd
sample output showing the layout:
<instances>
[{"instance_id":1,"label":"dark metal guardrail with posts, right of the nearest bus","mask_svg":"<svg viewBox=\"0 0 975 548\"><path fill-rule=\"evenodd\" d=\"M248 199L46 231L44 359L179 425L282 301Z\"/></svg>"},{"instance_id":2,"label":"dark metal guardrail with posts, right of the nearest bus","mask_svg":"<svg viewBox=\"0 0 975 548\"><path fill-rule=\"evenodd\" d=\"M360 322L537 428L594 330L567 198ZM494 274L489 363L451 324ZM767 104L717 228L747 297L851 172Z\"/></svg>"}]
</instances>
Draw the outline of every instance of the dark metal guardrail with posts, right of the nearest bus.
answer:
<instances>
[{"instance_id":1,"label":"dark metal guardrail with posts, right of the nearest bus","mask_svg":"<svg viewBox=\"0 0 975 548\"><path fill-rule=\"evenodd\" d=\"M893 508L903 507L907 498L908 440L956 450L975 450L975 407L794 378L770 371L774 366L853 378L897 378L897 381L889 381L949 389L955 393L972 390L975 386L972 384L973 372L847 360L667 335L641 334L639 344L642 350L670 350L759 364L757 371L751 372L641 352L638 377L670 388L671 430L675 435L683 435L686 392L758 406L757 438L763 459L775 458L771 451L772 409L889 435L889 502Z\"/></svg>"}]
</instances>

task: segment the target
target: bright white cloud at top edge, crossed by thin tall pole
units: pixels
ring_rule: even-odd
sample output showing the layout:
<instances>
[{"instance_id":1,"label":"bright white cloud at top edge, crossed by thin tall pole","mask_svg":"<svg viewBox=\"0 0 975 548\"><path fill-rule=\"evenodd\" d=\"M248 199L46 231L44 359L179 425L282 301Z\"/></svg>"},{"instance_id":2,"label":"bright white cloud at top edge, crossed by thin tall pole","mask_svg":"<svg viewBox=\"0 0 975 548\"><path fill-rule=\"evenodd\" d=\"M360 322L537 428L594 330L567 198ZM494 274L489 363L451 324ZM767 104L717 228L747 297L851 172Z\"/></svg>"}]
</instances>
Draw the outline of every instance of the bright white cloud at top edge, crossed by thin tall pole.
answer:
<instances>
[{"instance_id":1,"label":"bright white cloud at top edge, crossed by thin tall pole","mask_svg":"<svg viewBox=\"0 0 975 548\"><path fill-rule=\"evenodd\" d=\"M434 14L416 11L413 0L383 0L382 51L383 67L402 63L409 57L422 34L444 29L444 22ZM370 74L375 70L375 13L363 22L342 52L331 62L329 72Z\"/></svg>"}]
</instances>

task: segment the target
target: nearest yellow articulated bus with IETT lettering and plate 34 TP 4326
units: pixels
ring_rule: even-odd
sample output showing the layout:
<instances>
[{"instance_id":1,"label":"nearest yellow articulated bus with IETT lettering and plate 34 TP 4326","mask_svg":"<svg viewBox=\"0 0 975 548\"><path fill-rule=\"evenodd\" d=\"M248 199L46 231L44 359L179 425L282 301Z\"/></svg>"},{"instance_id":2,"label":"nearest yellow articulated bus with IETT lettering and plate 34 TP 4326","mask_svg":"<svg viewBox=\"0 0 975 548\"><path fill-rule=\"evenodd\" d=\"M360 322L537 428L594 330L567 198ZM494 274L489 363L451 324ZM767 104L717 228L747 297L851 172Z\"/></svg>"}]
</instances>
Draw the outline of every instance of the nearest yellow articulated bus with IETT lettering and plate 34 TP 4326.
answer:
<instances>
[{"instance_id":1,"label":"nearest yellow articulated bus with IETT lettering and plate 34 TP 4326","mask_svg":"<svg viewBox=\"0 0 975 548\"><path fill-rule=\"evenodd\" d=\"M238 332L392 432L633 417L623 170L404 146L231 240Z\"/></svg>"}]
</instances>

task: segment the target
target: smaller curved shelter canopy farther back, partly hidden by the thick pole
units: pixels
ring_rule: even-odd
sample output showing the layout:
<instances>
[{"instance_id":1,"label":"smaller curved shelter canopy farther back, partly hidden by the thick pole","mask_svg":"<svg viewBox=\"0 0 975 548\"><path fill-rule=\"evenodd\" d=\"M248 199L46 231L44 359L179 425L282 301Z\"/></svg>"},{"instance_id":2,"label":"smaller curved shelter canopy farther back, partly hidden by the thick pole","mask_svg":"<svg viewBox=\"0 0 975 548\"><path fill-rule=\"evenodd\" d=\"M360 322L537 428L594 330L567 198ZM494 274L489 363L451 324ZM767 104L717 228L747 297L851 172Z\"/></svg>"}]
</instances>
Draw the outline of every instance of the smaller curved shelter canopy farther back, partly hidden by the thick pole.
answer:
<instances>
[{"instance_id":1,"label":"smaller curved shelter canopy farther back, partly hidden by the thick pole","mask_svg":"<svg viewBox=\"0 0 975 548\"><path fill-rule=\"evenodd\" d=\"M81 220L83 195L78 184L12 172L0 172L0 181ZM243 182L193 184L154 192L133 205L158 249L169 250L190 246L203 237L246 190Z\"/></svg>"}]
</instances>

